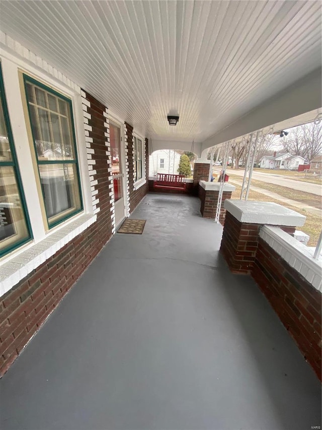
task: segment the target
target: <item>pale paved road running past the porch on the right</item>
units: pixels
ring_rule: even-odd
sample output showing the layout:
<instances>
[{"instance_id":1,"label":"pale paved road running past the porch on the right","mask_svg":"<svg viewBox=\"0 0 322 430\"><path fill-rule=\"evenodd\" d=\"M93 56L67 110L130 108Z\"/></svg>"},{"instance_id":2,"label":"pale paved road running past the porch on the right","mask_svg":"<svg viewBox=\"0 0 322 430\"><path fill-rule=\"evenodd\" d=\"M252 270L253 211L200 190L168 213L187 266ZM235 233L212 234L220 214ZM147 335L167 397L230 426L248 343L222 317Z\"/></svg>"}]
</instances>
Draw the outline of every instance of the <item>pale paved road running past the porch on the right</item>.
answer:
<instances>
[{"instance_id":1,"label":"pale paved road running past the porch on the right","mask_svg":"<svg viewBox=\"0 0 322 430\"><path fill-rule=\"evenodd\" d=\"M244 170L232 170L227 169L229 175L244 176ZM285 176L275 175L273 173L261 173L253 172L253 179L261 180L263 182L274 183L275 185L281 185L282 187L291 188L292 190L304 191L305 193L315 194L322 196L322 187L317 183L302 182L299 180L288 179Z\"/></svg>"}]
</instances>

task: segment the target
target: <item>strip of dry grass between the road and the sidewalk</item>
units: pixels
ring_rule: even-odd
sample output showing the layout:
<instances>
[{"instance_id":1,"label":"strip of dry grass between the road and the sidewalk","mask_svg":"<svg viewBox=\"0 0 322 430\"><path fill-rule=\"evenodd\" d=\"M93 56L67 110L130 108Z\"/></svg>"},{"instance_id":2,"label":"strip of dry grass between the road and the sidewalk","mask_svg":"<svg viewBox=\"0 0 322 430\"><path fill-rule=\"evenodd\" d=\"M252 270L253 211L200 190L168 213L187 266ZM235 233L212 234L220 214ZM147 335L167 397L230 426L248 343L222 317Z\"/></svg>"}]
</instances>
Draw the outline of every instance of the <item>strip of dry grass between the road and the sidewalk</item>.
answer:
<instances>
[{"instance_id":1,"label":"strip of dry grass between the road and the sidewalk","mask_svg":"<svg viewBox=\"0 0 322 430\"><path fill-rule=\"evenodd\" d=\"M230 175L231 179L242 181L243 178L237 175ZM282 187L273 183L263 182L261 180L252 179L252 185L254 187L262 188L264 190L271 191L287 199L296 200L304 205L313 206L317 209L322 209L321 197L312 193L305 193L304 191L292 190L291 188Z\"/></svg>"}]
</instances>

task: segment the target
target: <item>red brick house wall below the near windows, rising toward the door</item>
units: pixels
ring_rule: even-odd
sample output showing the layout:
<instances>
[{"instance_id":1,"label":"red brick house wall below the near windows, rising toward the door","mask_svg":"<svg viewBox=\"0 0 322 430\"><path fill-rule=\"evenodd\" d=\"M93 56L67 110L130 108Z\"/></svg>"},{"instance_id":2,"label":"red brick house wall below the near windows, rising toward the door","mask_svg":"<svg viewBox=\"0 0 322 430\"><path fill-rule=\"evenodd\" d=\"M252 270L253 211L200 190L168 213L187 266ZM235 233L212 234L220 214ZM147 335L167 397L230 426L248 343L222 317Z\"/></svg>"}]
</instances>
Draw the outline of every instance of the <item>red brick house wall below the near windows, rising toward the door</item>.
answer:
<instances>
[{"instance_id":1,"label":"red brick house wall below the near windows, rising toward the door","mask_svg":"<svg viewBox=\"0 0 322 430\"><path fill-rule=\"evenodd\" d=\"M112 235L111 204L107 173L106 137L104 133L106 108L87 95L92 115L89 125L95 160L94 180L98 180L100 211L97 221L64 248L30 273L0 299L0 375L3 375L33 334L43 324L63 296L88 268Z\"/></svg>"}]
</instances>

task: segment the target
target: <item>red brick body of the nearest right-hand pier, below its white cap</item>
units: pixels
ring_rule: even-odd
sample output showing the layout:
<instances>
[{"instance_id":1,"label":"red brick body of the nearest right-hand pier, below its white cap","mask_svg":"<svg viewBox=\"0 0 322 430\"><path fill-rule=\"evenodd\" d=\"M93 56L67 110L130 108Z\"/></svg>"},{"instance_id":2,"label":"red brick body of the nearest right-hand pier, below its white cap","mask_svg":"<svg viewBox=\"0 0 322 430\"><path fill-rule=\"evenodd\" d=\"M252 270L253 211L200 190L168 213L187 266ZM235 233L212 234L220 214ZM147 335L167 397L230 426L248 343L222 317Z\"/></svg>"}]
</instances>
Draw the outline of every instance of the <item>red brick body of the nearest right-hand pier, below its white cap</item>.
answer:
<instances>
[{"instance_id":1,"label":"red brick body of the nearest right-hand pier, below its white cap","mask_svg":"<svg viewBox=\"0 0 322 430\"><path fill-rule=\"evenodd\" d=\"M289 234L295 227L280 226ZM226 213L220 252L232 273L251 274L255 262L260 224L241 223Z\"/></svg>"}]
</instances>

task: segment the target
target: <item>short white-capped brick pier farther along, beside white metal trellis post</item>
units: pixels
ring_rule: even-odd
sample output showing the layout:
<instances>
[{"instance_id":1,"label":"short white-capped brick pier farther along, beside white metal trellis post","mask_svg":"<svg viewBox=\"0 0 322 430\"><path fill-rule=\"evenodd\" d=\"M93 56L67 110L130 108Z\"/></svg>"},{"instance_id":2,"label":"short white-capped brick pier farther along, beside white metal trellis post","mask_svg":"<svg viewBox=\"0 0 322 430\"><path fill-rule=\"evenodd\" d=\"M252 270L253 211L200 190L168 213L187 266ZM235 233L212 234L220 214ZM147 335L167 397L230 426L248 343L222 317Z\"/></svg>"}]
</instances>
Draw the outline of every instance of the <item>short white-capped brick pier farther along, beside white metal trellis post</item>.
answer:
<instances>
[{"instance_id":1,"label":"short white-capped brick pier farther along, beside white metal trellis post","mask_svg":"<svg viewBox=\"0 0 322 430\"><path fill-rule=\"evenodd\" d=\"M223 203L226 199L231 199L231 193L236 189L236 187L230 185L229 183L224 183L223 187L222 204L219 214L219 222L222 225L224 224L226 215L226 210L223 206ZM203 218L215 219L219 198L219 189L219 182L206 182L204 180L199 182L198 196L201 200L200 213Z\"/></svg>"}]
</instances>

